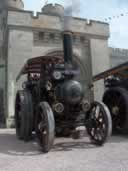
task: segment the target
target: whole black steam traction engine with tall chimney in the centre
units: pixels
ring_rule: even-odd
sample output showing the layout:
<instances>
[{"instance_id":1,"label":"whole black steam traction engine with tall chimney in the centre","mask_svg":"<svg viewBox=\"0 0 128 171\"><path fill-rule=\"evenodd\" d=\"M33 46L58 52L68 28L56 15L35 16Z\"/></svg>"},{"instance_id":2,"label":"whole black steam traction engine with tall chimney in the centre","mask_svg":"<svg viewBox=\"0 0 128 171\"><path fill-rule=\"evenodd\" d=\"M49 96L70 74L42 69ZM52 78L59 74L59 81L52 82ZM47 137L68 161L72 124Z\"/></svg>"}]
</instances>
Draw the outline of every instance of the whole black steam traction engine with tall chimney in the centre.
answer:
<instances>
[{"instance_id":1,"label":"whole black steam traction engine with tall chimney in the centre","mask_svg":"<svg viewBox=\"0 0 128 171\"><path fill-rule=\"evenodd\" d=\"M111 134L111 116L103 103L89 104L83 87L75 80L79 70L72 64L72 33L63 33L64 59L43 56L27 61L18 78L27 74L15 103L16 134L28 141L35 131L43 152L54 136L70 135L85 126L93 143L102 145Z\"/></svg>"}]
</instances>

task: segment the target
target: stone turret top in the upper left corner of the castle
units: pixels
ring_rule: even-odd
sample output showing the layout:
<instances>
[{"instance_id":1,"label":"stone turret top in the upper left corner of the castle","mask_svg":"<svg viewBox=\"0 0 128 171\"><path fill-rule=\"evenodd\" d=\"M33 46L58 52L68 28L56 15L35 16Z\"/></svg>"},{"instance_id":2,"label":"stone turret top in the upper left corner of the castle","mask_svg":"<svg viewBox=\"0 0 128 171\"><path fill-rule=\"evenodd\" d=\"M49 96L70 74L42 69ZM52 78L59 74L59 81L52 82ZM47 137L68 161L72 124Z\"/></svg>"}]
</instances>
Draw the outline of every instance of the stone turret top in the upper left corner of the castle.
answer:
<instances>
[{"instance_id":1,"label":"stone turret top in the upper left corner of the castle","mask_svg":"<svg viewBox=\"0 0 128 171\"><path fill-rule=\"evenodd\" d=\"M0 0L0 10L1 9L24 9L24 3L22 0Z\"/></svg>"}]
</instances>

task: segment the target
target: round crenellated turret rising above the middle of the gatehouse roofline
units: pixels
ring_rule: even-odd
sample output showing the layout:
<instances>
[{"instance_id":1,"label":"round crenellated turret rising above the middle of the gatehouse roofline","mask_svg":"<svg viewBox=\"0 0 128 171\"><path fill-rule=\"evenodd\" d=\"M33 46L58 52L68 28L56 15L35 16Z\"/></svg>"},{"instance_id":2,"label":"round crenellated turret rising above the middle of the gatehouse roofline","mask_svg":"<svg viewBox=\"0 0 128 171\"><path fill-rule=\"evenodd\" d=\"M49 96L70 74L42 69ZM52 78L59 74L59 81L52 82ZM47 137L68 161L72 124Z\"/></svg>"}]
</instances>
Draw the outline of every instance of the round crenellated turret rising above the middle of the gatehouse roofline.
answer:
<instances>
[{"instance_id":1,"label":"round crenellated turret rising above the middle of the gatehouse roofline","mask_svg":"<svg viewBox=\"0 0 128 171\"><path fill-rule=\"evenodd\" d=\"M53 16L64 16L64 7L59 4L47 4L42 8L42 13Z\"/></svg>"}]
</instances>

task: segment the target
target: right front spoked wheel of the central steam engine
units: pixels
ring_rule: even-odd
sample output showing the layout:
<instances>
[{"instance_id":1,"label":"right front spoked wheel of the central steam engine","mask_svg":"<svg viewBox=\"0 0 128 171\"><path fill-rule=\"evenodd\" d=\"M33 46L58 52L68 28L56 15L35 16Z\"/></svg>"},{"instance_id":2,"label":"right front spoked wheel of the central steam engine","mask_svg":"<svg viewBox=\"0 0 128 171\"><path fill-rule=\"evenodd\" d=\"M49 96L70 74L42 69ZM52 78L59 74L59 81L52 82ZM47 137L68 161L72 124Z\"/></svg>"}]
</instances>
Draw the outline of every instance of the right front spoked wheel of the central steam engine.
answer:
<instances>
[{"instance_id":1,"label":"right front spoked wheel of the central steam engine","mask_svg":"<svg viewBox=\"0 0 128 171\"><path fill-rule=\"evenodd\" d=\"M102 145L107 141L112 131L112 120L106 105L99 102L92 103L86 129L92 143Z\"/></svg>"}]
</instances>

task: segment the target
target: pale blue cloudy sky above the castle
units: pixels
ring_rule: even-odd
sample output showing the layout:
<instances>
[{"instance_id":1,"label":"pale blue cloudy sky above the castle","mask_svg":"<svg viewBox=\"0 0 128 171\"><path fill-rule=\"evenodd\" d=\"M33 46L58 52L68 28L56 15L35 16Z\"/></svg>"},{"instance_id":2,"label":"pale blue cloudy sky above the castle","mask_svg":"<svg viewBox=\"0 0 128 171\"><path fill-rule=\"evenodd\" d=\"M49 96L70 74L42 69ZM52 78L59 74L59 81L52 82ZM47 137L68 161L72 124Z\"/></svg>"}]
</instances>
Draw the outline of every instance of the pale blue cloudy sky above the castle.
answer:
<instances>
[{"instance_id":1,"label":"pale blue cloudy sky above the castle","mask_svg":"<svg viewBox=\"0 0 128 171\"><path fill-rule=\"evenodd\" d=\"M73 2L74 16L104 21L110 25L109 46L128 49L128 0L23 0L25 9L41 11L43 5ZM106 20L107 19L107 20Z\"/></svg>"}]
</instances>

